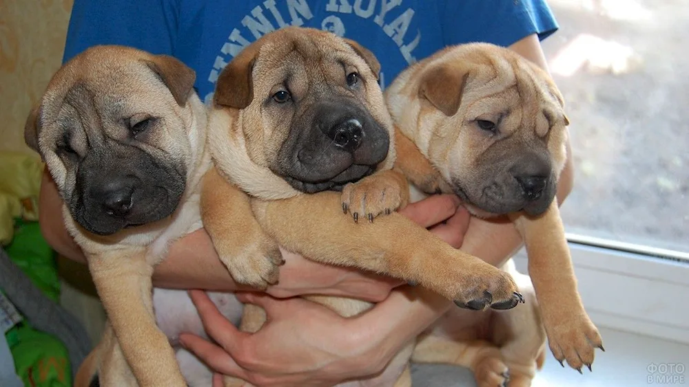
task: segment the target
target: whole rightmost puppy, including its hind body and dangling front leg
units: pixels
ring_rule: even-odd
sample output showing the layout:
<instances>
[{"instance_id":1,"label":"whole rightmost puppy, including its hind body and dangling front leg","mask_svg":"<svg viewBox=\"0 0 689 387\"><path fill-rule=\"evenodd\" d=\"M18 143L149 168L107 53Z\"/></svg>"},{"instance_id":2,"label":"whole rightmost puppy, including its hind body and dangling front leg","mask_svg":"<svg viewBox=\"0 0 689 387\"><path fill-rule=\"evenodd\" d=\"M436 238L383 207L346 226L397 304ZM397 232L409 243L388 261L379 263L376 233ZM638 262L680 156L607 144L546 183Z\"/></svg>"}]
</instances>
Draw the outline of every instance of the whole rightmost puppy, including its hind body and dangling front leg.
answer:
<instances>
[{"instance_id":1,"label":"whole rightmost puppy, including its hind body and dangling front leg","mask_svg":"<svg viewBox=\"0 0 689 387\"><path fill-rule=\"evenodd\" d=\"M511 260L503 267L524 307L445 318L415 358L471 366L479 386L530 386L547 335L559 362L590 368L601 336L579 297L555 200L569 122L550 76L510 49L457 45L402 71L385 96L396 166L415 197L455 193L478 217L507 215L528 254L530 278Z\"/></svg>"}]
</instances>

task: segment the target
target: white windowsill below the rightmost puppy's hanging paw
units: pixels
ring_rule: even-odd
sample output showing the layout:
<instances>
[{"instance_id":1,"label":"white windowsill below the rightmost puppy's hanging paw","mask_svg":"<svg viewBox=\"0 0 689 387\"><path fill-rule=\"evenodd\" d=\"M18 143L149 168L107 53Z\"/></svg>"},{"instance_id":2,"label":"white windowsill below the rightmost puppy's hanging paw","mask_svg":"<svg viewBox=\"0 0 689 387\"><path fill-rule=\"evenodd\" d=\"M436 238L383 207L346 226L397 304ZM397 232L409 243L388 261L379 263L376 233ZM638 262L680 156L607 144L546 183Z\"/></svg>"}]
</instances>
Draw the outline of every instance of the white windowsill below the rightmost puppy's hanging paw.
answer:
<instances>
[{"instance_id":1,"label":"white windowsill below the rightmost puppy's hanging paw","mask_svg":"<svg viewBox=\"0 0 689 387\"><path fill-rule=\"evenodd\" d=\"M553 354L548 351L544 368L536 374L533 387L641 387L641 386L684 386L689 385L689 345L669 342L658 338L601 328L606 352L596 351L593 372L584 368L579 375L565 364L562 368ZM657 379L648 382L649 364L668 367L669 364L682 364L684 372L679 381ZM669 366L670 368L672 366ZM650 366L652 368L652 366ZM661 368L665 369L665 368ZM666 371L667 375L671 374ZM659 375L657 373L656 375ZM653 375L651 377L654 377ZM663 378L663 377L661 377Z\"/></svg>"}]
</instances>

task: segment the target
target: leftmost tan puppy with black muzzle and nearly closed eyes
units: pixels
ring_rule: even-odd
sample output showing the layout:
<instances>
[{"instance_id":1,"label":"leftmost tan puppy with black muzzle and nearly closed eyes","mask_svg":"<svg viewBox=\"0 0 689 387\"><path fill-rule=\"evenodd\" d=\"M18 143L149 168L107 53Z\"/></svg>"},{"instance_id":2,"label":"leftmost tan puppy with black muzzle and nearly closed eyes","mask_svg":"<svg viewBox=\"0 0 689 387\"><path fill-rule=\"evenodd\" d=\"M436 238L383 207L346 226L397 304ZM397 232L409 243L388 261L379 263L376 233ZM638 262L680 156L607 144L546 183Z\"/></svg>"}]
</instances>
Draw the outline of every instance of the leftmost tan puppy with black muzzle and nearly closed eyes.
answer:
<instances>
[{"instance_id":1,"label":"leftmost tan puppy with black muzzle and nearly closed eyes","mask_svg":"<svg viewBox=\"0 0 689 387\"><path fill-rule=\"evenodd\" d=\"M116 338L90 357L101 386L187 386L156 326L151 275L171 241L201 226L209 156L194 78L170 56L93 47L56 72L25 127L88 259L112 327L105 341Z\"/></svg>"}]
</instances>

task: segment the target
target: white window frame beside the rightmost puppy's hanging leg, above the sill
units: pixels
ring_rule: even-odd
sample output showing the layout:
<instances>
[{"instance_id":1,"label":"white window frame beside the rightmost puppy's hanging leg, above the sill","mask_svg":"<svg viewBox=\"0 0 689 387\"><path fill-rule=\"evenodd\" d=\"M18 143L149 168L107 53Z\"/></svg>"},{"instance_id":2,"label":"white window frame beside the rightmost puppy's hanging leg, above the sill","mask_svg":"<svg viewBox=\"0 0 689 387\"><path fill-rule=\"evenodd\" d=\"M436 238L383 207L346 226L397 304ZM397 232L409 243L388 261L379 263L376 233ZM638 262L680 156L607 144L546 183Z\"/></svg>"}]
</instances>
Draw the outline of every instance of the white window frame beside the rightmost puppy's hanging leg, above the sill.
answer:
<instances>
[{"instance_id":1,"label":"white window frame beside the rightmost puppy's hanging leg, above the sill","mask_svg":"<svg viewBox=\"0 0 689 387\"><path fill-rule=\"evenodd\" d=\"M597 326L689 344L689 254L579 234L567 239ZM524 250L514 258L526 273Z\"/></svg>"}]
</instances>

